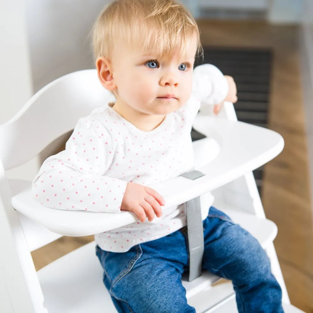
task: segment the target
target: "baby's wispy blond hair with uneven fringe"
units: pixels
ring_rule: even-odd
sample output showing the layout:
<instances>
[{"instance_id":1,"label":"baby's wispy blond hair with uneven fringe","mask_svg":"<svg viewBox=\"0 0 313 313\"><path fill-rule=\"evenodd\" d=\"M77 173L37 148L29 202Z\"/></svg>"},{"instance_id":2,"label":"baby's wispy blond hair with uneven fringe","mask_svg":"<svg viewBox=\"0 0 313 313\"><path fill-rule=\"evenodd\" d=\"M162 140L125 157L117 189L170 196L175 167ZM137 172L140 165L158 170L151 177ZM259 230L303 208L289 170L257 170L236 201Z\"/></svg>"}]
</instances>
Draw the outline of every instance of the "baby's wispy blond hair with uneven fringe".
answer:
<instances>
[{"instance_id":1,"label":"baby's wispy blond hair with uneven fringe","mask_svg":"<svg viewBox=\"0 0 313 313\"><path fill-rule=\"evenodd\" d=\"M197 23L182 4L174 0L115 0L99 15L92 29L93 52L112 58L116 41L140 44L142 50L164 57L174 49L186 53L193 33L197 55L203 50Z\"/></svg>"}]
</instances>

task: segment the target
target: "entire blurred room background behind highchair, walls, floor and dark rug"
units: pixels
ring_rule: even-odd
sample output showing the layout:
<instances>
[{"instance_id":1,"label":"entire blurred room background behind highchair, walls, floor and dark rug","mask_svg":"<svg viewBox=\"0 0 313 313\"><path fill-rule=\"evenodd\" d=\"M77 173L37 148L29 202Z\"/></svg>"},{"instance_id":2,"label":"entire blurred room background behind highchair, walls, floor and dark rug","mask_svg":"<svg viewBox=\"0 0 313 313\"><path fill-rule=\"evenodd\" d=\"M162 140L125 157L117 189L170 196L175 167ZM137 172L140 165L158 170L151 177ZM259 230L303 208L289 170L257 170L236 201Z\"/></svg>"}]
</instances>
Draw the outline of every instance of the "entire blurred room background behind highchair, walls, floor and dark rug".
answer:
<instances>
[{"instance_id":1,"label":"entire blurred room background behind highchair, walls, floor and dark rug","mask_svg":"<svg viewBox=\"0 0 313 313\"><path fill-rule=\"evenodd\" d=\"M0 0L0 123L50 81L93 68L88 34L109 0ZM313 1L184 0L197 18L205 62L234 77L239 120L279 132L284 151L254 172L290 301L313 312ZM40 160L11 170L32 180ZM63 237L68 249L92 237ZM39 269L64 254L33 252Z\"/></svg>"}]
</instances>

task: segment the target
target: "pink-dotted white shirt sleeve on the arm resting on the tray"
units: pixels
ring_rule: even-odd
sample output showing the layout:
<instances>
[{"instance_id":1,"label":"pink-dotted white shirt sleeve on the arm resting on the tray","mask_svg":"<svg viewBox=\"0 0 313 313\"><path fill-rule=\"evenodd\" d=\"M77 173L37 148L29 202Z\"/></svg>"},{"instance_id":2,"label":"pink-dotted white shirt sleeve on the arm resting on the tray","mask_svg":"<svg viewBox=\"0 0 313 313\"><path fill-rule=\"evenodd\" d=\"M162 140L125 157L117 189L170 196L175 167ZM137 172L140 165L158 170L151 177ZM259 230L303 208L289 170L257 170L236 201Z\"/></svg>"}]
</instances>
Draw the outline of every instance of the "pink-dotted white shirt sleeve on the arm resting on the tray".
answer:
<instances>
[{"instance_id":1,"label":"pink-dotted white shirt sleeve on the arm resting on the tray","mask_svg":"<svg viewBox=\"0 0 313 313\"><path fill-rule=\"evenodd\" d=\"M80 119L65 150L42 164L32 184L35 199L50 208L120 212L127 182L106 175L113 155L105 127Z\"/></svg>"}]
</instances>

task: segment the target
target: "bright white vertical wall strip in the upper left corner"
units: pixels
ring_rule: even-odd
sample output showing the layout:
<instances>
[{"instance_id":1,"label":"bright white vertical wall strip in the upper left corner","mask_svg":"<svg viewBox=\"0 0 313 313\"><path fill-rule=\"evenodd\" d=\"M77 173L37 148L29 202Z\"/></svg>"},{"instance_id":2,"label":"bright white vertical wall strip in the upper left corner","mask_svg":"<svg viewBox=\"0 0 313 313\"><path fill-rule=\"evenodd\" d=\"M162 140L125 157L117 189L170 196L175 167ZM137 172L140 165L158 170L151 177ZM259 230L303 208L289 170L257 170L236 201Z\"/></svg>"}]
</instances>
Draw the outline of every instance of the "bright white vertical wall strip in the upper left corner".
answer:
<instances>
[{"instance_id":1,"label":"bright white vertical wall strip in the upper left corner","mask_svg":"<svg viewBox=\"0 0 313 313\"><path fill-rule=\"evenodd\" d=\"M0 124L32 95L24 1L0 1Z\"/></svg>"}]
</instances>

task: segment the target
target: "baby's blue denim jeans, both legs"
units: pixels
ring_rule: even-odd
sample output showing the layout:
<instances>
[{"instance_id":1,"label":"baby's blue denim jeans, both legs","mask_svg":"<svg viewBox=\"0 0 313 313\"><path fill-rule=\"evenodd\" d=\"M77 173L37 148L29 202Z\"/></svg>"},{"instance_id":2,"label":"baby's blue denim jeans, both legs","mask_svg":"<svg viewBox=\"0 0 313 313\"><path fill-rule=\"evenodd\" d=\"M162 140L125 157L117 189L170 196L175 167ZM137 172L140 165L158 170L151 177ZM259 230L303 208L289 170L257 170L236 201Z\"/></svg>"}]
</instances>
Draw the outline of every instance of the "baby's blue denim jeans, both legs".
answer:
<instances>
[{"instance_id":1,"label":"baby's blue denim jeans, both legs","mask_svg":"<svg viewBox=\"0 0 313 313\"><path fill-rule=\"evenodd\" d=\"M240 313L281 313L281 288L258 241L211 207L203 221L202 268L232 280ZM103 281L120 313L191 313L182 286L188 270L187 227L123 253L96 247Z\"/></svg>"}]
</instances>

